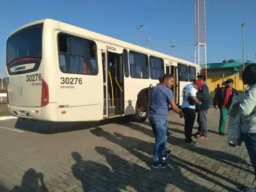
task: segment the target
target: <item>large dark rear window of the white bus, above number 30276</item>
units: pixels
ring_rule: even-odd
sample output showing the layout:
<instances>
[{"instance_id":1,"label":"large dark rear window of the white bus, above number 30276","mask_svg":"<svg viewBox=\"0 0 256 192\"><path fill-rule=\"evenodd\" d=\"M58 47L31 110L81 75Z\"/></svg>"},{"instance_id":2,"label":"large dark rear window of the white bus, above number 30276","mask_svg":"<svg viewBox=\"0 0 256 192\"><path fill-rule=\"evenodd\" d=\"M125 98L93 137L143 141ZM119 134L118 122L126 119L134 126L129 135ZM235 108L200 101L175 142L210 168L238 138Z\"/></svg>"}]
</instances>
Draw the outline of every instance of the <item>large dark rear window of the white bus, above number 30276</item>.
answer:
<instances>
[{"instance_id":1,"label":"large dark rear window of the white bus, above number 30276","mask_svg":"<svg viewBox=\"0 0 256 192\"><path fill-rule=\"evenodd\" d=\"M21 58L42 58L42 25L21 29L6 45L6 65Z\"/></svg>"}]
</instances>

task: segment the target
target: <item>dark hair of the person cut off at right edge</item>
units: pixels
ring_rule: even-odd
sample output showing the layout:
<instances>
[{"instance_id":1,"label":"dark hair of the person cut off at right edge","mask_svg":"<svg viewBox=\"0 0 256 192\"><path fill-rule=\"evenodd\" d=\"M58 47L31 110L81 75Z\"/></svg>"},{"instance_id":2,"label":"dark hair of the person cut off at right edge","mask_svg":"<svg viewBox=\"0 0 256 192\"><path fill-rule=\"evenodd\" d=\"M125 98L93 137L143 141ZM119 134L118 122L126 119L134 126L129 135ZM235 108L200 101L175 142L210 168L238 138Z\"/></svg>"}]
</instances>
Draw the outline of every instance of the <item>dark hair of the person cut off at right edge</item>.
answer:
<instances>
[{"instance_id":1,"label":"dark hair of the person cut off at right edge","mask_svg":"<svg viewBox=\"0 0 256 192\"><path fill-rule=\"evenodd\" d=\"M244 84L249 86L256 84L256 63L250 63L244 68L242 79Z\"/></svg>"}]
</instances>

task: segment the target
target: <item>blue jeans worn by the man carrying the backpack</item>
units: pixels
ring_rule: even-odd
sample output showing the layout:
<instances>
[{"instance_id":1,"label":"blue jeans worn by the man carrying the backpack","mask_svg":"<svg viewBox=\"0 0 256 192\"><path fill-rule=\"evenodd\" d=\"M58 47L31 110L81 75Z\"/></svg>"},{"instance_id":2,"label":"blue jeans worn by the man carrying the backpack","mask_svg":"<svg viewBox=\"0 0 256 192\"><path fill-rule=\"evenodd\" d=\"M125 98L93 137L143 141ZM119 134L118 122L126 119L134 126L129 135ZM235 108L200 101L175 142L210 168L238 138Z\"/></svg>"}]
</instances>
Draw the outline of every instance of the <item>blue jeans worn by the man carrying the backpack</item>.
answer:
<instances>
[{"instance_id":1,"label":"blue jeans worn by the man carrying the backpack","mask_svg":"<svg viewBox=\"0 0 256 192\"><path fill-rule=\"evenodd\" d=\"M166 153L166 132L168 129L168 120L149 118L149 124L151 125L155 135L153 163L160 163L162 161L163 154Z\"/></svg>"}]
</instances>

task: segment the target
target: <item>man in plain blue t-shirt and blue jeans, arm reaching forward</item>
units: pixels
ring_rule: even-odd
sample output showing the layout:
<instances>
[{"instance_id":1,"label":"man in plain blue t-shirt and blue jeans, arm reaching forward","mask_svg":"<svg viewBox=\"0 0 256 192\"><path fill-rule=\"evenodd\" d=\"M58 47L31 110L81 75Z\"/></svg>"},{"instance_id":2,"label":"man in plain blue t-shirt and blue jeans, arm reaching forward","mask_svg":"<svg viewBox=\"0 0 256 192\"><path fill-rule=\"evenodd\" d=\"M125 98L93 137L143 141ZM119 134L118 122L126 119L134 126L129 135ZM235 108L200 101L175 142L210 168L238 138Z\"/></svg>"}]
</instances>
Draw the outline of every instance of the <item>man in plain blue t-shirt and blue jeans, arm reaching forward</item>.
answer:
<instances>
[{"instance_id":1,"label":"man in plain blue t-shirt and blue jeans, arm reaching forward","mask_svg":"<svg viewBox=\"0 0 256 192\"><path fill-rule=\"evenodd\" d=\"M171 74L165 74L158 86L152 90L148 118L155 135L153 168L166 168L167 164L163 163L162 159L167 159L171 154L170 150L166 150L169 105L175 113L178 113L181 118L183 117L182 111L175 104L173 92L170 89L174 81L175 79Z\"/></svg>"}]
</instances>

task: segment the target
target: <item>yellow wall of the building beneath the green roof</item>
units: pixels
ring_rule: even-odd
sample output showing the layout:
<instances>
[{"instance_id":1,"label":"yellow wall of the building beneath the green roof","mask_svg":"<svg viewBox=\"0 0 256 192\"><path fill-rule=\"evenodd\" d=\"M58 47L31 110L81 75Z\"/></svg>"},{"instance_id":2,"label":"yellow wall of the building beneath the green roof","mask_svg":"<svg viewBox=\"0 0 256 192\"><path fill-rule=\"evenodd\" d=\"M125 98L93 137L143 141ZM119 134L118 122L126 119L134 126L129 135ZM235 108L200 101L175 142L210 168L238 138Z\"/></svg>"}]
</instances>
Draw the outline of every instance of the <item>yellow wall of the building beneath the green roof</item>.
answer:
<instances>
[{"instance_id":1,"label":"yellow wall of the building beneath the green roof","mask_svg":"<svg viewBox=\"0 0 256 192\"><path fill-rule=\"evenodd\" d=\"M225 76L224 81L227 79L233 79L234 85L233 88L235 88L237 91L243 91L243 81L240 79L239 74L234 74L231 76ZM214 92L214 89L217 87L217 84L223 83L223 77L207 77L207 85L209 86L210 92Z\"/></svg>"}]
</instances>

